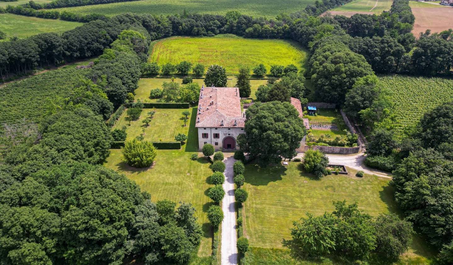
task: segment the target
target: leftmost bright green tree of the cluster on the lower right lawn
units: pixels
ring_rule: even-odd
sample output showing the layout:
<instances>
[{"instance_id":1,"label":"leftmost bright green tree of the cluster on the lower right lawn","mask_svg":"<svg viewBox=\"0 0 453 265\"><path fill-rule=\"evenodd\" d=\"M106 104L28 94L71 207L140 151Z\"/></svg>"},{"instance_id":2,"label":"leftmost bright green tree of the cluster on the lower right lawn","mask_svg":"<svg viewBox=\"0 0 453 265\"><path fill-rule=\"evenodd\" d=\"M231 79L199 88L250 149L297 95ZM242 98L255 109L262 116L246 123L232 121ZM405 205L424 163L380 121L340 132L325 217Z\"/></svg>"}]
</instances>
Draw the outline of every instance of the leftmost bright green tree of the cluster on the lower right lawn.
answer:
<instances>
[{"instance_id":1,"label":"leftmost bright green tree of the cluster on the lower right lawn","mask_svg":"<svg viewBox=\"0 0 453 265\"><path fill-rule=\"evenodd\" d=\"M315 257L332 253L336 245L336 224L336 218L330 213L318 217L307 213L306 218L293 222L294 228L291 228L293 250L302 255Z\"/></svg>"}]
</instances>

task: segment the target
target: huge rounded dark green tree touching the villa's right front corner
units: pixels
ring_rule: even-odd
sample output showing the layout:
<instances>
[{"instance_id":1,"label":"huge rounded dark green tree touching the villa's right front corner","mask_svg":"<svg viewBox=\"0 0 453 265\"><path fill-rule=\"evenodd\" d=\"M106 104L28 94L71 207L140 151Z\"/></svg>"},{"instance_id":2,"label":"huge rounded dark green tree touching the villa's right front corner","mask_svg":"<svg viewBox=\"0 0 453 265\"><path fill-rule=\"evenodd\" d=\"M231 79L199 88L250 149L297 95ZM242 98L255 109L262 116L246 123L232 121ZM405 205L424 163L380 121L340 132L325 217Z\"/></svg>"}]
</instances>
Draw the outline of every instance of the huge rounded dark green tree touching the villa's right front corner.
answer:
<instances>
[{"instance_id":1,"label":"huge rounded dark green tree touching the villa's right front corner","mask_svg":"<svg viewBox=\"0 0 453 265\"><path fill-rule=\"evenodd\" d=\"M257 102L246 111L245 135L237 142L241 151L263 166L293 158L306 130L299 113L289 102ZM272 143L270 145L269 143Z\"/></svg>"}]
</instances>

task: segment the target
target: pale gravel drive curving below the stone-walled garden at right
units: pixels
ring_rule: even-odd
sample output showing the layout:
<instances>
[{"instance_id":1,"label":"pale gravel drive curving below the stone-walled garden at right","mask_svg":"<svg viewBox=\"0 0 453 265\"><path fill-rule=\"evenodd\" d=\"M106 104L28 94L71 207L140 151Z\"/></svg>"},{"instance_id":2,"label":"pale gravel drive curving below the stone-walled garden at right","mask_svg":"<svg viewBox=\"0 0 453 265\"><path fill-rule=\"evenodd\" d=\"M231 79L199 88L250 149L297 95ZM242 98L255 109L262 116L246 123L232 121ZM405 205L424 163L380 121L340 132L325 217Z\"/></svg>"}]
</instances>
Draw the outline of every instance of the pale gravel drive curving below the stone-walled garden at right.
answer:
<instances>
[{"instance_id":1,"label":"pale gravel drive curving below the stone-walled garden at right","mask_svg":"<svg viewBox=\"0 0 453 265\"><path fill-rule=\"evenodd\" d=\"M362 170L367 174L376 175L382 178L391 178L389 173L386 173L381 170L371 169L364 164L365 154L326 154L329 158L329 164L340 164L350 167L356 170ZM296 156L297 158L303 158L304 153L299 153Z\"/></svg>"}]
</instances>

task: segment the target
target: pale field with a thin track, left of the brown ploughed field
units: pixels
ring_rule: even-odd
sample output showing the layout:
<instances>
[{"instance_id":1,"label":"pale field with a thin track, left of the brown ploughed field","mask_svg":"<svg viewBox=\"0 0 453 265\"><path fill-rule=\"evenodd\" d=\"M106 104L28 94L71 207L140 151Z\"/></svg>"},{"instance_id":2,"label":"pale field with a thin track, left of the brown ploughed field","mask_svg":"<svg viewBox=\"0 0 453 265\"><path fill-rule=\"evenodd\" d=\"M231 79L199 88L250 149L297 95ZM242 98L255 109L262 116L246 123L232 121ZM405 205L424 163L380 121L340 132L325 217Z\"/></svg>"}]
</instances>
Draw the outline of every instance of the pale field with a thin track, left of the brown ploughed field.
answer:
<instances>
[{"instance_id":1,"label":"pale field with a thin track, left of the brown ploughed field","mask_svg":"<svg viewBox=\"0 0 453 265\"><path fill-rule=\"evenodd\" d=\"M331 11L331 14L352 16L353 14L381 14L382 11L390 10L392 0L357 0L339 6Z\"/></svg>"}]
</instances>

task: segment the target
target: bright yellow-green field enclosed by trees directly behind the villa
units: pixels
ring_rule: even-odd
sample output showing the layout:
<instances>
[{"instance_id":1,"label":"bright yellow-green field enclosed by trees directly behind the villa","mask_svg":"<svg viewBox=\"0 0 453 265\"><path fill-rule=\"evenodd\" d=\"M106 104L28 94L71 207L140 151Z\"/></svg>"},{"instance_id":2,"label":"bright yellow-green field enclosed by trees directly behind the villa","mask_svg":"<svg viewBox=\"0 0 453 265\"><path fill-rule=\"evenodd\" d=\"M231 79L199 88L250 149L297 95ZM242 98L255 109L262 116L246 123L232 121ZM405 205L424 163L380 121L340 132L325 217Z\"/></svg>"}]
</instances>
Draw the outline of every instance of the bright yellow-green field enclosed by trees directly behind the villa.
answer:
<instances>
[{"instance_id":1,"label":"bright yellow-green field enclosed by trees directly behind the villa","mask_svg":"<svg viewBox=\"0 0 453 265\"><path fill-rule=\"evenodd\" d=\"M263 63L270 71L273 64L294 64L304 68L308 52L297 43L280 39L245 39L232 34L215 37L172 37L152 43L149 62L201 63L206 68L219 64L227 75L235 75L241 65L254 67Z\"/></svg>"}]
</instances>

